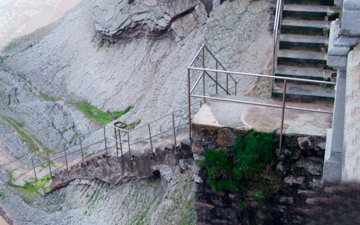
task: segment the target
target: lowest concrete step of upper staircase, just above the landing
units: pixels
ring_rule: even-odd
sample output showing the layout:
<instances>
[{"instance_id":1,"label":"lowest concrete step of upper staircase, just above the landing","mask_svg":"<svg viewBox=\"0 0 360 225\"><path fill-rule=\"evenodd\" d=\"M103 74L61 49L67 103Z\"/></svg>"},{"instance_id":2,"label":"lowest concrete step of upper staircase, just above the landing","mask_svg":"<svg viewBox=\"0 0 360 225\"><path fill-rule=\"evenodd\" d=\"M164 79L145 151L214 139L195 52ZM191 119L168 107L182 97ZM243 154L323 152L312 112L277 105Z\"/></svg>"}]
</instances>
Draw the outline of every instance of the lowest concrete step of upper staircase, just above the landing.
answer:
<instances>
[{"instance_id":1,"label":"lowest concrete step of upper staircase, just above the landing","mask_svg":"<svg viewBox=\"0 0 360 225\"><path fill-rule=\"evenodd\" d=\"M273 93L282 96L283 83L275 83ZM335 90L333 87L322 87L306 84L288 83L286 86L286 98L297 100L310 99L333 99Z\"/></svg>"}]
</instances>

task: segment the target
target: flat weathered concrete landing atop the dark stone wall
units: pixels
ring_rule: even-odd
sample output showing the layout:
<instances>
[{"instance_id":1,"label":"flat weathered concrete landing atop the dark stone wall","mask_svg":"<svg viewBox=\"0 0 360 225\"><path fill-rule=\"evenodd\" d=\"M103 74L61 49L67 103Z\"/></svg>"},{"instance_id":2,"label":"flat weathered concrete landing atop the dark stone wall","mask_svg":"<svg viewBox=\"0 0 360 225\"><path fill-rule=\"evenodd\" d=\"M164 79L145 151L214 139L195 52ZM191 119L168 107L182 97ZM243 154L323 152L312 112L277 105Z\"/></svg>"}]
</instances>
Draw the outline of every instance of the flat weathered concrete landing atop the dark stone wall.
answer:
<instances>
[{"instance_id":1,"label":"flat weathered concrete landing atop the dark stone wall","mask_svg":"<svg viewBox=\"0 0 360 225\"><path fill-rule=\"evenodd\" d=\"M226 95L217 95L216 97L281 105L281 101L273 99ZM332 111L333 107L332 103L327 101L317 101L314 103L287 102L286 105L326 111ZM331 127L331 121L332 114L285 109L284 133L325 137L326 129ZM281 108L208 100L196 113L192 123L231 127L240 130L276 131L279 133Z\"/></svg>"}]
</instances>

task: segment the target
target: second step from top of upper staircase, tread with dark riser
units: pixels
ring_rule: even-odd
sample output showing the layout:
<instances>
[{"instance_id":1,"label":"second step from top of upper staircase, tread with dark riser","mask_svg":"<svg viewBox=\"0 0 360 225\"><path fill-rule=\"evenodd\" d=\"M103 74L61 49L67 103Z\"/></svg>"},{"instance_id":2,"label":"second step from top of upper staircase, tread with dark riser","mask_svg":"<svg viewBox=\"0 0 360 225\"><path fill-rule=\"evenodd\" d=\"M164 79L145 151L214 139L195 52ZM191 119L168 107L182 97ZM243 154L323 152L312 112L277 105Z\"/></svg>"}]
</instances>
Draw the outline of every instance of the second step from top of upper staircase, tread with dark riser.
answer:
<instances>
[{"instance_id":1,"label":"second step from top of upper staircase, tread with dark riser","mask_svg":"<svg viewBox=\"0 0 360 225\"><path fill-rule=\"evenodd\" d=\"M330 28L329 21L282 19L281 33L326 36Z\"/></svg>"}]
</instances>

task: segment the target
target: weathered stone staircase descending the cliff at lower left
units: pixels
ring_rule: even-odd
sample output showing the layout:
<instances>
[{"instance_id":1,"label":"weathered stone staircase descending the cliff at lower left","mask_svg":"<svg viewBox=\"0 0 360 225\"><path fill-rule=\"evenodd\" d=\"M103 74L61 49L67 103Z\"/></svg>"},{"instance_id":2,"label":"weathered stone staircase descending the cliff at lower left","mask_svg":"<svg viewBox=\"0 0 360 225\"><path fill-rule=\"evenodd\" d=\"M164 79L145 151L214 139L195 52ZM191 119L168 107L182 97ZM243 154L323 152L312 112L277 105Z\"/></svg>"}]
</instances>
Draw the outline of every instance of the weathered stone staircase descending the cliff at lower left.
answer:
<instances>
[{"instance_id":1,"label":"weathered stone staircase descending the cliff at lower left","mask_svg":"<svg viewBox=\"0 0 360 225\"><path fill-rule=\"evenodd\" d=\"M121 177L148 177L152 174L152 165L155 164L178 164L179 159L191 157L190 140L188 132L182 131L176 135L176 145L172 135L164 136L152 141L140 141L130 146L131 160L128 146L122 144L120 149L111 146L106 150L100 150L94 154L86 155L84 163L82 158L69 163L68 169L57 169L52 176L51 190L65 186L69 181L80 179L97 178L108 183L116 184Z\"/></svg>"}]
</instances>

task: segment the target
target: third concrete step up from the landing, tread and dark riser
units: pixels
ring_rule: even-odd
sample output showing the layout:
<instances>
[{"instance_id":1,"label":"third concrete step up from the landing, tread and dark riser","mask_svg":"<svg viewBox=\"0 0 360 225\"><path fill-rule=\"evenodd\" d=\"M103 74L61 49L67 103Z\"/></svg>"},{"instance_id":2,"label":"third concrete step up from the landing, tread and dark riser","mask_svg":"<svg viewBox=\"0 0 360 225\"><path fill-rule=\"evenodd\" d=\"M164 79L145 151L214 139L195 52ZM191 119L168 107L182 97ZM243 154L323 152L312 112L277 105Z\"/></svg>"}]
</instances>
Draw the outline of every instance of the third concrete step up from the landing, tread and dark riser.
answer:
<instances>
[{"instance_id":1,"label":"third concrete step up from the landing, tread and dark riser","mask_svg":"<svg viewBox=\"0 0 360 225\"><path fill-rule=\"evenodd\" d=\"M282 49L277 54L277 65L326 67L326 52Z\"/></svg>"}]
</instances>

